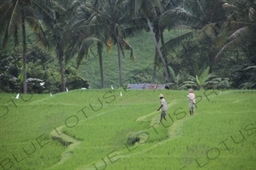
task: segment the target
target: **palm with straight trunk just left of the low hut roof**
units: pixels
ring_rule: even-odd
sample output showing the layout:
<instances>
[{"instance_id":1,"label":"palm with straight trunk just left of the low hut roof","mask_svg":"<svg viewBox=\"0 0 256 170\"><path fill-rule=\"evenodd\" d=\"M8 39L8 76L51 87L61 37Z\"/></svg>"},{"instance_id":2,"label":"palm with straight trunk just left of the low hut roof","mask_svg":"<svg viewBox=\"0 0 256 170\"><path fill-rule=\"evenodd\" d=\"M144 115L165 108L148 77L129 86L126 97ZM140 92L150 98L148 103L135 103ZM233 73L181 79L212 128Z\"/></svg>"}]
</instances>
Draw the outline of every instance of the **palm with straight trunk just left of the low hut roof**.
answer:
<instances>
[{"instance_id":1,"label":"palm with straight trunk just left of the low hut roof","mask_svg":"<svg viewBox=\"0 0 256 170\"><path fill-rule=\"evenodd\" d=\"M113 1L103 4L104 8L99 11L102 17L102 23L106 31L108 45L116 44L119 58L119 85L122 87L122 61L121 55L125 55L124 50L130 50L130 58L134 61L134 53L131 45L125 40L128 36L128 28L126 24L130 22L130 15L126 0ZM105 27L106 26L106 27Z\"/></svg>"}]
</instances>

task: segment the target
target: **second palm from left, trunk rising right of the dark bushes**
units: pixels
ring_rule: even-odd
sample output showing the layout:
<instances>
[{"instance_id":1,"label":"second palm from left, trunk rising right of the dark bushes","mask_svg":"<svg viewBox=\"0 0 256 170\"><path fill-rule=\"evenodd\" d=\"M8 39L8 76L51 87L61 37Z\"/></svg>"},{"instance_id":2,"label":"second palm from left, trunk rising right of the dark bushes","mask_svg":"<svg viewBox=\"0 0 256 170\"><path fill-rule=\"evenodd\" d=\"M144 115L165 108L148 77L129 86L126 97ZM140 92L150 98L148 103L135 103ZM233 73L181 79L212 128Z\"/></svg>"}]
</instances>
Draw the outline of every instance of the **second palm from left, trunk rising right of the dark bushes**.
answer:
<instances>
[{"instance_id":1,"label":"second palm from left, trunk rising right of the dark bushes","mask_svg":"<svg viewBox=\"0 0 256 170\"><path fill-rule=\"evenodd\" d=\"M65 52L69 47L68 45L71 44L71 39L74 38L74 32L71 27L76 20L75 12L80 4L77 1L51 1L49 5L40 2L37 5L41 6L43 9L40 11L40 14L42 14L43 23L46 26L45 32L47 36L47 42L44 45L48 47L49 50L54 48L60 67L62 91L65 91L65 74L63 61ZM81 39L82 38L84 38L84 36L82 36ZM79 45L78 42L77 45ZM86 48L81 45L81 51L84 52L84 49ZM84 54L83 52L81 53Z\"/></svg>"}]
</instances>

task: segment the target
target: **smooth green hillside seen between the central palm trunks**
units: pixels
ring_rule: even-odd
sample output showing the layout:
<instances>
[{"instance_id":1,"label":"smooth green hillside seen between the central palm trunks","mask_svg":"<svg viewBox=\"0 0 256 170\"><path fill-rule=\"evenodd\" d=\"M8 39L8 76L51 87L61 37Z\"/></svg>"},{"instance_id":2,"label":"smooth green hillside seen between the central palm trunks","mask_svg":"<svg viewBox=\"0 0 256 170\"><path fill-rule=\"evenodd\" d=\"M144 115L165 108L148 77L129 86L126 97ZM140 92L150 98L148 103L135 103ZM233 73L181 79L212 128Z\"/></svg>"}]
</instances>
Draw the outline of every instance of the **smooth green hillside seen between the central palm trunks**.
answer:
<instances>
[{"instance_id":1,"label":"smooth green hillside seen between the central palm trunks","mask_svg":"<svg viewBox=\"0 0 256 170\"><path fill-rule=\"evenodd\" d=\"M164 32L164 39L175 38L184 33L180 32ZM131 44L136 60L131 62L130 51L125 51L125 57L122 57L122 74L123 82L125 85L130 83L144 83L151 82L153 74L153 63L155 55L155 46L153 44L152 36L150 32L143 32L141 35L137 35L128 39ZM96 49L96 46L94 47ZM92 48L94 51L95 49ZM75 63L75 61L74 61ZM101 88L100 85L100 67L99 57L97 52L90 53L89 60L80 67L81 76L90 82L91 88ZM111 85L114 88L119 87L119 66L118 66L118 54L116 46L112 46L111 53L107 54L106 47L103 49L103 70L104 70L104 82L105 88L110 88ZM166 83L165 76L163 75L163 66L157 68L156 82ZM136 77L134 80L134 76Z\"/></svg>"}]
</instances>

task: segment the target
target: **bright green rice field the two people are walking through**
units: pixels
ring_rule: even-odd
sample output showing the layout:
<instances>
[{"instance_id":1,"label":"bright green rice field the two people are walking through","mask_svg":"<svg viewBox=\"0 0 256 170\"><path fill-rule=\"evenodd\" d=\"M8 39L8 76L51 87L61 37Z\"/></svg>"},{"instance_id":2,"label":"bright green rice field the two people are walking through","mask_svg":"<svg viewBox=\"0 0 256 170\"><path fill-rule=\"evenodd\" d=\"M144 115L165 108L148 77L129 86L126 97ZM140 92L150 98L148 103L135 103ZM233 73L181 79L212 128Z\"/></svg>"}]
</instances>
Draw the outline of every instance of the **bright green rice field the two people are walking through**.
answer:
<instances>
[{"instance_id":1,"label":"bright green rice field the two people are walking through","mask_svg":"<svg viewBox=\"0 0 256 170\"><path fill-rule=\"evenodd\" d=\"M168 104L163 124L160 93ZM2 93L0 170L254 169L255 93L195 91L194 116L187 91L22 94L27 101L14 99L16 107L16 94Z\"/></svg>"}]
</instances>

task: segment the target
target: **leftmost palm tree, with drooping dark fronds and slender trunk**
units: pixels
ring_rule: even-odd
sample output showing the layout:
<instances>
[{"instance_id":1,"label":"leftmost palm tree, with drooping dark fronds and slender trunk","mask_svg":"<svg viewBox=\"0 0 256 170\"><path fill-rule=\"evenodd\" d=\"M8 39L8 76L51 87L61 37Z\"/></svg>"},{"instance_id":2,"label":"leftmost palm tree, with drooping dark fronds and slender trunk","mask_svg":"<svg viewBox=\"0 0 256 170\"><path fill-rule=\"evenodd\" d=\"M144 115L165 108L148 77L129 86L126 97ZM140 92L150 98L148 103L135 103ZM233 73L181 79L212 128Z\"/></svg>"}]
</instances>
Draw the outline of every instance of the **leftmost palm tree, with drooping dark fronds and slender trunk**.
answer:
<instances>
[{"instance_id":1,"label":"leftmost palm tree, with drooping dark fronds and slender trunk","mask_svg":"<svg viewBox=\"0 0 256 170\"><path fill-rule=\"evenodd\" d=\"M34 1L33 1L34 3ZM17 45L18 42L18 31L21 29L22 34L22 45L23 45L23 92L24 94L27 94L27 42L26 42L26 23L27 26L30 26L30 28L37 32L36 36L40 41L45 42L46 39L44 39L44 33L43 29L40 26L39 21L36 18L36 14L34 14L33 8L31 6L30 0L11 0L7 1L5 0L1 4L1 19L0 19L0 36L2 36L2 33L5 32L4 39L2 40L2 50L6 48L6 45L8 43L8 39L10 36L14 36L14 42L15 45Z\"/></svg>"}]
</instances>

